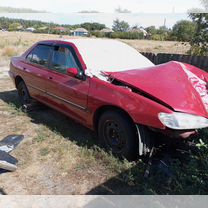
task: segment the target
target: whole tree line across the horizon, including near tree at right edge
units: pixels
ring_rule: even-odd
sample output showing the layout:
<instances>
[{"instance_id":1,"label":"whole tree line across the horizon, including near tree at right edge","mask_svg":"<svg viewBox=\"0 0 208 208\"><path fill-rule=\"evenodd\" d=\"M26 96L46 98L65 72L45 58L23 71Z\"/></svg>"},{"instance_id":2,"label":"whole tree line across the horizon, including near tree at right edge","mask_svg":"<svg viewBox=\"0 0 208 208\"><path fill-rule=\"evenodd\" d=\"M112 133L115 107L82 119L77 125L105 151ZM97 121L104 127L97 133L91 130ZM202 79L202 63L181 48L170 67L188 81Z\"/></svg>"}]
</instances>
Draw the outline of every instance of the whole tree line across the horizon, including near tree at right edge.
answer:
<instances>
[{"instance_id":1,"label":"whole tree line across the horizon, including near tree at right edge","mask_svg":"<svg viewBox=\"0 0 208 208\"><path fill-rule=\"evenodd\" d=\"M120 38L120 39L150 39L160 41L182 41L191 44L190 54L208 56L208 14L189 13L191 20L181 20L170 29L165 26L146 28L138 25L130 26L128 22L116 19L113 21L112 30L102 31L105 24L82 23L76 25L60 25L35 20L11 19L0 17L0 29L8 31L21 31L26 28L34 28L36 33L65 34L69 35L71 30L85 28L89 34L96 37ZM57 30L63 27L64 30Z\"/></svg>"}]
</instances>

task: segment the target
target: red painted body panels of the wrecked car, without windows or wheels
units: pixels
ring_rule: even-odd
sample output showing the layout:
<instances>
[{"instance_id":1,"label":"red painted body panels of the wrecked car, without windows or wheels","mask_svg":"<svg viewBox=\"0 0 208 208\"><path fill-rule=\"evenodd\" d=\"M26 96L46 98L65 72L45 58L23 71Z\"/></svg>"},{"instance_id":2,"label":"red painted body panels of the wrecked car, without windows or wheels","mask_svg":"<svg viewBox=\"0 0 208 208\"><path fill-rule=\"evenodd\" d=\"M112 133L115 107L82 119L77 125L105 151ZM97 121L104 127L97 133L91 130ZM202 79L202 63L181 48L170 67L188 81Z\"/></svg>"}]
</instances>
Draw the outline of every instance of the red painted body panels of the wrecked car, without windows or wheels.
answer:
<instances>
[{"instance_id":1,"label":"red painted body panels of the wrecked car, without windows or wheels","mask_svg":"<svg viewBox=\"0 0 208 208\"><path fill-rule=\"evenodd\" d=\"M86 69L84 60L73 44L64 41L41 43L71 45L81 62L82 68ZM110 73L111 77L148 95L145 97L142 94L131 92L97 78L87 77L85 81L82 81L30 64L25 60L25 57L31 49L21 57L12 59L10 68L12 79L15 80L17 76L21 77L28 86L32 97L91 129L94 127L93 122L96 113L106 106L122 109L135 123L158 129L165 129L165 126L158 119L160 112L180 111L207 117L199 94L190 84L181 66L176 62L169 62L144 70ZM190 65L186 66L200 78L208 80L206 72ZM36 86L42 91L31 88L30 85ZM82 109L51 97L49 94L81 106Z\"/></svg>"}]
</instances>

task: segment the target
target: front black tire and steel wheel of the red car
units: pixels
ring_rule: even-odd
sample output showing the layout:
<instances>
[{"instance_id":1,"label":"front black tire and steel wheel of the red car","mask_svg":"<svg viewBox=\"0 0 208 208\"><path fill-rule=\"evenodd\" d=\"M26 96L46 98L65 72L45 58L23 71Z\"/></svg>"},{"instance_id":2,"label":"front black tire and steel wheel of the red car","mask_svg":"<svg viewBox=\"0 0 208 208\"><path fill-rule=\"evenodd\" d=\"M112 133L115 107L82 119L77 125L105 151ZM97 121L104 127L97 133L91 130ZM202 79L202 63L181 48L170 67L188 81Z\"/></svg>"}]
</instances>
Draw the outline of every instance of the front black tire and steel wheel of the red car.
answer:
<instances>
[{"instance_id":1,"label":"front black tire and steel wheel of the red car","mask_svg":"<svg viewBox=\"0 0 208 208\"><path fill-rule=\"evenodd\" d=\"M127 160L135 160L139 146L136 129L131 119L119 111L107 111L98 123L100 143L113 155Z\"/></svg>"}]
</instances>

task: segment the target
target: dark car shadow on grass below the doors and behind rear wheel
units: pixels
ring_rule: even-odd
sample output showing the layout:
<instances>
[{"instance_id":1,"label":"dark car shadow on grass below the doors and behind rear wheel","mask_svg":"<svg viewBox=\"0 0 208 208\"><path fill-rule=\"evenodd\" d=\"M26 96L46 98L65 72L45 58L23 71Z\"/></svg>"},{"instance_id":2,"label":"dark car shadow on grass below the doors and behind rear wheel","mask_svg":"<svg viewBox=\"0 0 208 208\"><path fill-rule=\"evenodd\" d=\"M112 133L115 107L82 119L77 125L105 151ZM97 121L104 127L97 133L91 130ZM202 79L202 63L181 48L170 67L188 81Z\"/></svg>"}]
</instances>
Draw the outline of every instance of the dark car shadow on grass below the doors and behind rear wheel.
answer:
<instances>
[{"instance_id":1,"label":"dark car shadow on grass below the doors and behind rear wheel","mask_svg":"<svg viewBox=\"0 0 208 208\"><path fill-rule=\"evenodd\" d=\"M0 99L12 104L17 109L21 108L16 90L0 92ZM31 122L43 124L51 131L59 133L64 138L70 139L80 146L90 148L98 144L93 131L52 108L40 105L36 110L27 112L27 115L32 119Z\"/></svg>"}]
</instances>

